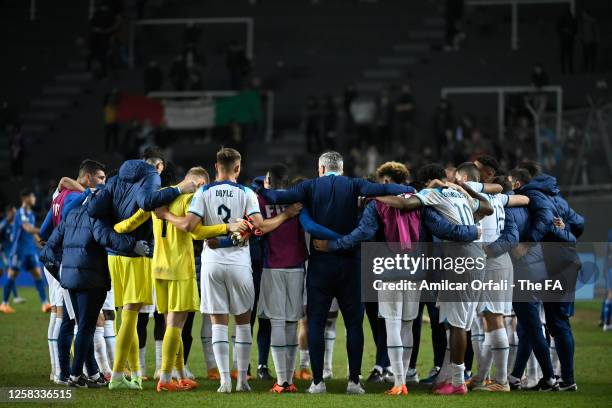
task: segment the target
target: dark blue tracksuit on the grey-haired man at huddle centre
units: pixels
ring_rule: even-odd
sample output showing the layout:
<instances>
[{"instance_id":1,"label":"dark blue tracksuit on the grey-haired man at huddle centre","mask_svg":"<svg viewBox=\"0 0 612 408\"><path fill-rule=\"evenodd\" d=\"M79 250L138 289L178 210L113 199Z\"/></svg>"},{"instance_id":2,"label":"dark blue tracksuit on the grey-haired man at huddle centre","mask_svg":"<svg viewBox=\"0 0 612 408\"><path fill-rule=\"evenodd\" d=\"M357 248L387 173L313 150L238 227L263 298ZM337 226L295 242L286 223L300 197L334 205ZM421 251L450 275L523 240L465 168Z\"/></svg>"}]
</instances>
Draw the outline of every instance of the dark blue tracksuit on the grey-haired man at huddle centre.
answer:
<instances>
[{"instance_id":1,"label":"dark blue tracksuit on the grey-haired man at huddle centre","mask_svg":"<svg viewBox=\"0 0 612 408\"><path fill-rule=\"evenodd\" d=\"M342 235L357 226L360 196L399 195L413 191L397 184L376 184L363 179L326 175L306 180L284 191L260 190L273 204L301 202L313 220ZM363 355L363 304L359 251L356 249L325 253L311 245L306 277L308 298L308 349L313 380L323 379L325 345L323 333L332 299L338 300L346 326L346 348L349 360L349 379L359 381Z\"/></svg>"}]
</instances>

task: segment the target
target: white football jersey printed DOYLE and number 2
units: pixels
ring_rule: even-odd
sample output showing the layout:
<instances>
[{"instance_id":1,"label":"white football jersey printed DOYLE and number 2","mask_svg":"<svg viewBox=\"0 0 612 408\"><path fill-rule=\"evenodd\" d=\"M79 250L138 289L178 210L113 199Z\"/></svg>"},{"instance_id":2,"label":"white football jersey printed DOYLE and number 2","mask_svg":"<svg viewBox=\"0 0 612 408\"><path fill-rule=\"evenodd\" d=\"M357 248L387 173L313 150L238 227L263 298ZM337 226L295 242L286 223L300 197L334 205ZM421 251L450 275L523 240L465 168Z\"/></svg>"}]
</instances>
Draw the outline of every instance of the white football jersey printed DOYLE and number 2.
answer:
<instances>
[{"instance_id":1,"label":"white football jersey printed DOYLE and number 2","mask_svg":"<svg viewBox=\"0 0 612 408\"><path fill-rule=\"evenodd\" d=\"M248 187L231 182L219 181L201 187L193 195L189 212L200 218L204 225L228 224L245 215L259 213L257 195ZM251 266L248 245L202 251L202 263Z\"/></svg>"}]
</instances>

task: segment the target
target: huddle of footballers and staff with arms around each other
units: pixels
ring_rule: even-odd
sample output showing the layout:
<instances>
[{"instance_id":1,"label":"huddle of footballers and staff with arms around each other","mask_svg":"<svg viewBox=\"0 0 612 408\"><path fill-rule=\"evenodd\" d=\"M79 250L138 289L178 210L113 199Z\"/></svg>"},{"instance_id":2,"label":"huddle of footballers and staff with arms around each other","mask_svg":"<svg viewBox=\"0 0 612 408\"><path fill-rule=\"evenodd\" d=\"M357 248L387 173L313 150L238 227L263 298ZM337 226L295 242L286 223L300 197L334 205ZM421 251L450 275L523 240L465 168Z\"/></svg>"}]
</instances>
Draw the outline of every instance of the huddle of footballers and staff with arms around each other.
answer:
<instances>
[{"instance_id":1,"label":"huddle of footballers and staff with arms around each other","mask_svg":"<svg viewBox=\"0 0 612 408\"><path fill-rule=\"evenodd\" d=\"M571 301L512 302L512 288L502 299L487 289L452 300L425 301L414 290L362 299L362 242L468 244L486 258L484 269L464 274L472 280L512 281L519 270L551 272L563 267L560 259L574 262L584 220L536 163L504 172L481 156L452 169L425 165L410 177L403 164L387 162L369 181L344 176L342 156L330 151L319 157L317 178L292 179L285 166L272 165L247 187L238 183L241 160L234 149L219 150L214 180L202 167L176 179L155 148L108 179L102 164L85 160L76 179L60 181L40 228L35 196L22 193L21 207L8 214L10 237L3 236L11 267L0 310L14 312L16 272L30 271L43 311L51 312L52 381L142 389L146 322L154 314L157 391L192 390L198 384L186 361L199 311L207 375L220 381L218 392L232 392L232 378L236 392L251 391L258 317L257 376L274 381L270 392L297 392L294 379L302 379L311 380L307 393L324 393L340 312L346 392L363 394L365 312L376 347L367 381L392 383L386 394L405 395L406 384L419 382L426 307L434 368L421 382L433 393L577 390ZM539 245L545 242L567 245Z\"/></svg>"}]
</instances>

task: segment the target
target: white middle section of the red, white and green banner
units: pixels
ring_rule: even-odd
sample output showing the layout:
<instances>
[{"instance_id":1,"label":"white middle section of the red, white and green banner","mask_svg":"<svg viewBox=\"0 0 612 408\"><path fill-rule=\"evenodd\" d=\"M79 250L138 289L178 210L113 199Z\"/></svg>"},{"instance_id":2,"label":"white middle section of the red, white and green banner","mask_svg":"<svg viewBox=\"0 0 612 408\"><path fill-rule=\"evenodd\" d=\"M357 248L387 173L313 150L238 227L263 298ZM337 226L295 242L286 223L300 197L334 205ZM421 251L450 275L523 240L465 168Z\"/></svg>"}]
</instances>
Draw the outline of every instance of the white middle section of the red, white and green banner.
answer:
<instances>
[{"instance_id":1,"label":"white middle section of the red, white and green banner","mask_svg":"<svg viewBox=\"0 0 612 408\"><path fill-rule=\"evenodd\" d=\"M164 101L168 129L208 129L215 126L215 105L203 100Z\"/></svg>"}]
</instances>

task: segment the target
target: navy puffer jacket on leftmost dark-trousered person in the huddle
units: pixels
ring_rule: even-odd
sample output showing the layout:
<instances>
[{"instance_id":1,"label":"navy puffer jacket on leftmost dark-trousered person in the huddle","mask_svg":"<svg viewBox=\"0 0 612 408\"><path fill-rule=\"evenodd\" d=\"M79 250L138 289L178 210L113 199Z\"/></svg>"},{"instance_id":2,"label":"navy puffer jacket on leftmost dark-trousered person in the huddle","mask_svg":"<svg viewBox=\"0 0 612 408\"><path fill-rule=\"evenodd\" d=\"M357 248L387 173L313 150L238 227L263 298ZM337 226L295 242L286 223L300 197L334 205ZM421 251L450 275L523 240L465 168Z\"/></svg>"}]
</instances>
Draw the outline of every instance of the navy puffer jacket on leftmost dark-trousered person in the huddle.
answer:
<instances>
[{"instance_id":1,"label":"navy puffer jacket on leftmost dark-trousered person in the huddle","mask_svg":"<svg viewBox=\"0 0 612 408\"><path fill-rule=\"evenodd\" d=\"M83 205L72 210L53 231L40 258L65 289L109 290L111 281L104 248L131 252L135 245L134 238L117 234L108 221L91 218Z\"/></svg>"}]
</instances>

